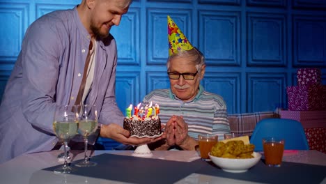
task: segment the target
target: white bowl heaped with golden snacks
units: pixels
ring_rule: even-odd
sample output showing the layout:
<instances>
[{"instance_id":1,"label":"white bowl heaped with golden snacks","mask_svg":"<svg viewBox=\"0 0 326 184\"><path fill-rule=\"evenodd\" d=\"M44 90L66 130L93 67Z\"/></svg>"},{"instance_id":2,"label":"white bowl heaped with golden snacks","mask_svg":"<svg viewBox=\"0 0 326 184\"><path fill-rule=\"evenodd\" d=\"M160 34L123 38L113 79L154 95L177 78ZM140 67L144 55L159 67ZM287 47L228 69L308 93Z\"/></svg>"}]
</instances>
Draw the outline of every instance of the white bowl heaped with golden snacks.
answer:
<instances>
[{"instance_id":1,"label":"white bowl heaped with golden snacks","mask_svg":"<svg viewBox=\"0 0 326 184\"><path fill-rule=\"evenodd\" d=\"M229 139L219 141L208 153L210 160L222 170L233 173L242 173L254 167L261 160L261 153L254 152L254 144L249 140Z\"/></svg>"}]
</instances>

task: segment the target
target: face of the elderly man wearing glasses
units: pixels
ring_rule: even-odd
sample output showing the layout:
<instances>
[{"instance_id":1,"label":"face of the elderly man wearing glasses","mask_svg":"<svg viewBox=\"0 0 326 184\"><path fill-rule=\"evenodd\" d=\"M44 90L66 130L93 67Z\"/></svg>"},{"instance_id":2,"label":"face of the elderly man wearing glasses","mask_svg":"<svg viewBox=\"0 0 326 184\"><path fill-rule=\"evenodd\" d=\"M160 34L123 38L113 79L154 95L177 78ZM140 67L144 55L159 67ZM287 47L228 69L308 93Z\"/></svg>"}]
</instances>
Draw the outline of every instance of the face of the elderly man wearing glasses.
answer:
<instances>
[{"instance_id":1,"label":"face of the elderly man wearing glasses","mask_svg":"<svg viewBox=\"0 0 326 184\"><path fill-rule=\"evenodd\" d=\"M170 61L169 72L196 73L196 71L196 66L189 61L188 57L173 58ZM179 79L170 79L171 91L183 101L192 100L199 91L199 84L204 72L205 66L193 80L186 80L183 75L180 75Z\"/></svg>"}]
</instances>

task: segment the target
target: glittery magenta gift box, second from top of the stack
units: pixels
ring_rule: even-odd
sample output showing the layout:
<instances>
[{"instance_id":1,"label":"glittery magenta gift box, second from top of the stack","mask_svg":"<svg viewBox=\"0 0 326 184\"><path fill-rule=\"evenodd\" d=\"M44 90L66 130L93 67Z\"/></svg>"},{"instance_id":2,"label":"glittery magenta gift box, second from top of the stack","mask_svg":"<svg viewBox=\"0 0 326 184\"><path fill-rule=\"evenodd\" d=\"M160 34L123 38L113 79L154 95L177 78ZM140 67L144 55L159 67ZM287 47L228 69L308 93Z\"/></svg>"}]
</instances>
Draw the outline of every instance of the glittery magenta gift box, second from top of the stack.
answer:
<instances>
[{"instance_id":1,"label":"glittery magenta gift box, second from top of the stack","mask_svg":"<svg viewBox=\"0 0 326 184\"><path fill-rule=\"evenodd\" d=\"M325 110L326 86L322 84L309 84L302 86L288 86L288 109L294 111Z\"/></svg>"}]
</instances>

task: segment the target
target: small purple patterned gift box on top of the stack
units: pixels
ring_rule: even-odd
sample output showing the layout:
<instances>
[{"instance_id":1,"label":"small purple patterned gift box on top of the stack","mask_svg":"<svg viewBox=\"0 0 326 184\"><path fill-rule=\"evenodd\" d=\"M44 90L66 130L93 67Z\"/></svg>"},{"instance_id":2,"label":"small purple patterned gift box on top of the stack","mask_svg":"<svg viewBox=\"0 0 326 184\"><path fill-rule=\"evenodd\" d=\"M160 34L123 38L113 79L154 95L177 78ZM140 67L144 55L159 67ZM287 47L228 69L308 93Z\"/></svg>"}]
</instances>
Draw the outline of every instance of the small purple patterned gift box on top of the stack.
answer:
<instances>
[{"instance_id":1,"label":"small purple patterned gift box on top of the stack","mask_svg":"<svg viewBox=\"0 0 326 184\"><path fill-rule=\"evenodd\" d=\"M297 70L297 85L321 84L321 71L318 68L300 68Z\"/></svg>"}]
</instances>

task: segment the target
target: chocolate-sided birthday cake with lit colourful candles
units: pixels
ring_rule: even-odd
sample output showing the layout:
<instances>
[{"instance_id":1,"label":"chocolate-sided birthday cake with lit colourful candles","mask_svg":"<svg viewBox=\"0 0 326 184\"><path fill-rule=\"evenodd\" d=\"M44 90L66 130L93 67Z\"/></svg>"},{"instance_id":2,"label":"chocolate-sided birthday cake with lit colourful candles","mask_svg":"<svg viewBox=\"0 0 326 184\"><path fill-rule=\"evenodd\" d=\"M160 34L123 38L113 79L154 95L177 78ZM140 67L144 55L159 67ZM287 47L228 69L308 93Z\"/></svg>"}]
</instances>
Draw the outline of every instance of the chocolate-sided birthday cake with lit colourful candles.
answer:
<instances>
[{"instance_id":1,"label":"chocolate-sided birthday cake with lit colourful candles","mask_svg":"<svg viewBox=\"0 0 326 184\"><path fill-rule=\"evenodd\" d=\"M131 136L154 137L161 135L161 120L158 116L158 105L153 109L149 107L139 109L139 105L134 108L134 115L131 116L132 106L128 107L127 115L123 121L123 128L130 132ZM154 113L153 113L154 111Z\"/></svg>"}]
</instances>

